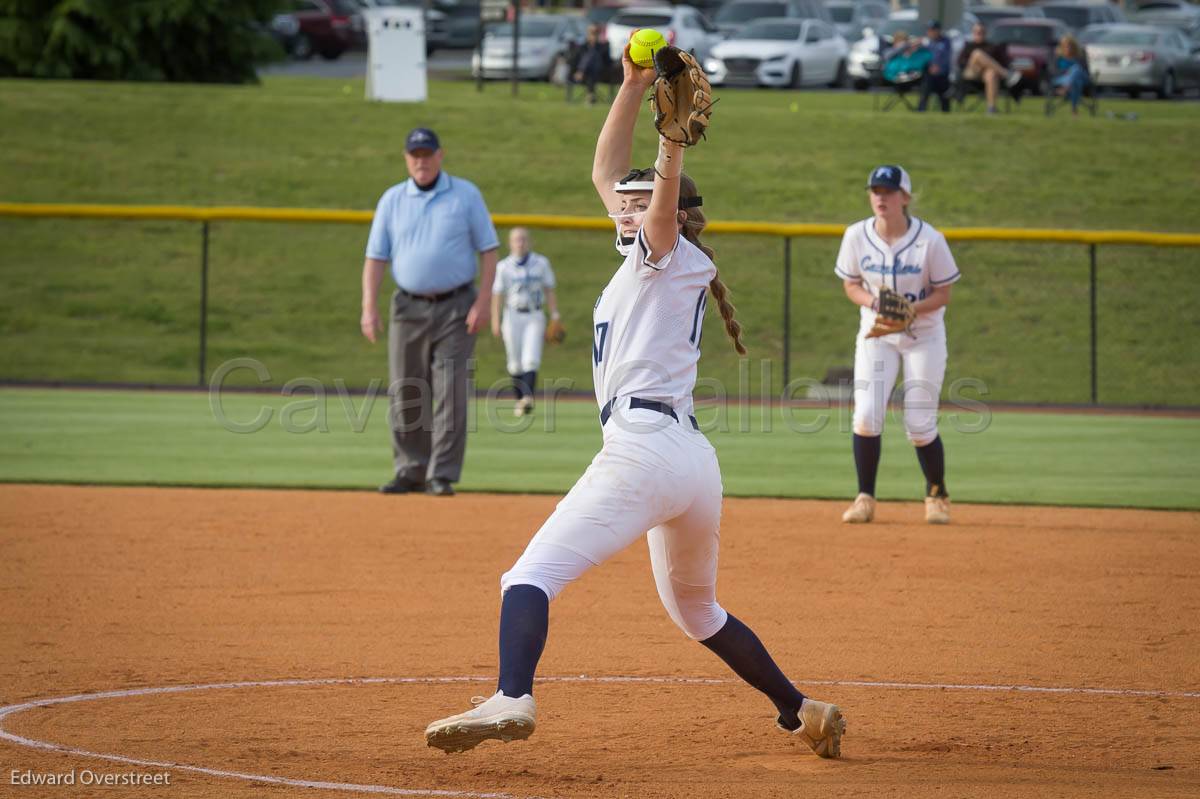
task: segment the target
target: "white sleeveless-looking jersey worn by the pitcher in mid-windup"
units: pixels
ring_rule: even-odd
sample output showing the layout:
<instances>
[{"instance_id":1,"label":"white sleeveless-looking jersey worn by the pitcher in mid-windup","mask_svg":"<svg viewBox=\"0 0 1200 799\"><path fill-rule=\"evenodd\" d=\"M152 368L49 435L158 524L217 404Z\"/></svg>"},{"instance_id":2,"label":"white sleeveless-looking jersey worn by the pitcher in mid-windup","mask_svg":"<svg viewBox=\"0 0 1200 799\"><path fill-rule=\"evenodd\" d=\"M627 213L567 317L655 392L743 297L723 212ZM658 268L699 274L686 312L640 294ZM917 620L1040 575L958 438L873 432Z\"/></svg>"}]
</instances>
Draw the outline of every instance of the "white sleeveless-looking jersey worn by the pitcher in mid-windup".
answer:
<instances>
[{"instance_id":1,"label":"white sleeveless-looking jersey worn by the pitcher in mid-windup","mask_svg":"<svg viewBox=\"0 0 1200 799\"><path fill-rule=\"evenodd\" d=\"M602 408L614 398L664 402L692 413L708 284L716 266L683 236L658 262L637 232L632 252L592 313L592 380Z\"/></svg>"}]
</instances>

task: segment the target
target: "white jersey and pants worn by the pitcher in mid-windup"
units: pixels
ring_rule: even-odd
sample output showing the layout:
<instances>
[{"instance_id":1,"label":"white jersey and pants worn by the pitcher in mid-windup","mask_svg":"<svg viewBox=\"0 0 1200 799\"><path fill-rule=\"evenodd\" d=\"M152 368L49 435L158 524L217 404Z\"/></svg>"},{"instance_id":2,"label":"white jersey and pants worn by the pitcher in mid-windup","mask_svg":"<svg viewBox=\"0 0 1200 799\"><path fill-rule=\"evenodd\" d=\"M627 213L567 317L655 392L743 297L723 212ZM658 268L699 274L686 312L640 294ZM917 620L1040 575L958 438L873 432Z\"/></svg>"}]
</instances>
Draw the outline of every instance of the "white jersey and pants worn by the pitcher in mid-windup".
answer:
<instances>
[{"instance_id":1,"label":"white jersey and pants worn by the pitcher in mid-windup","mask_svg":"<svg viewBox=\"0 0 1200 799\"><path fill-rule=\"evenodd\" d=\"M647 536L659 597L690 637L715 635L721 471L691 392L713 262L683 238L658 263L641 232L593 312L593 378L604 446L500 579L553 599ZM658 409L644 407L646 403Z\"/></svg>"}]
</instances>

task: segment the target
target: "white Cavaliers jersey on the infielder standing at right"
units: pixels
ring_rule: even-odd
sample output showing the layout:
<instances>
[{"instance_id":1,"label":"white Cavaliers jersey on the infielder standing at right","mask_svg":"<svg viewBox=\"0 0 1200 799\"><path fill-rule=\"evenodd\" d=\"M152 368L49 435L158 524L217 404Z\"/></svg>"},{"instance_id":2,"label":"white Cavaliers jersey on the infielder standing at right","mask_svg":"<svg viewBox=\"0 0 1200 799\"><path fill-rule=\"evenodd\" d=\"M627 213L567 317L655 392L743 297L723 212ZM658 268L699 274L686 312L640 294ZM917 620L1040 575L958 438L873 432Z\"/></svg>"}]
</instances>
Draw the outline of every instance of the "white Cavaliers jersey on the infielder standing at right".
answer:
<instances>
[{"instance_id":1,"label":"white Cavaliers jersey on the infielder standing at right","mask_svg":"<svg viewBox=\"0 0 1200 799\"><path fill-rule=\"evenodd\" d=\"M880 287L888 287L917 302L929 296L937 286L949 286L962 276L954 256L946 244L946 236L934 226L912 217L908 230L895 245L888 245L875 230L875 217L856 222L846 228L834 266L838 277L846 281L863 281L871 294L878 296ZM946 307L932 313L923 313L913 323L913 332L942 330ZM862 330L875 324L875 312L862 310Z\"/></svg>"}]
</instances>

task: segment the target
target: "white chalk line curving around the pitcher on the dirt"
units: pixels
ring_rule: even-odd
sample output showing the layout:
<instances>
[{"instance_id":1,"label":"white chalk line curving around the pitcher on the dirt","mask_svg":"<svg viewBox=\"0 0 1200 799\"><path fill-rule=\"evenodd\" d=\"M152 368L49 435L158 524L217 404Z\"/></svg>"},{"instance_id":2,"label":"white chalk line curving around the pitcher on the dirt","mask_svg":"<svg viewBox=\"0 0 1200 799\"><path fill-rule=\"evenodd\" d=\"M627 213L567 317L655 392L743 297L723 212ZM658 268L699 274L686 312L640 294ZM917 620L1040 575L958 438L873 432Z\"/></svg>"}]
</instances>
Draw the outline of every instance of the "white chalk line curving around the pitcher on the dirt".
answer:
<instances>
[{"instance_id":1,"label":"white chalk line curving around the pitcher on the dirt","mask_svg":"<svg viewBox=\"0 0 1200 799\"><path fill-rule=\"evenodd\" d=\"M126 765L140 765L156 769L173 769L203 774L206 776L242 780L246 782L260 782L269 785L282 785L295 788L319 788L324 791L343 791L348 793L372 793L396 797L462 797L468 799L517 799L510 793L475 791L444 791L437 788L397 788L385 785L360 785L354 782L326 782L320 780L298 780L294 777L272 776L269 774L248 774L245 771L228 771L224 769L212 769L204 765L190 765L186 763L173 763L168 761L150 761L124 755L112 755L107 752L92 752L85 749L55 744L53 741L35 740L17 735L4 728L4 721L8 716L14 716L26 710L36 708L50 708L58 704L70 704L76 702L94 702L97 699L116 699L137 696L155 696L164 693L188 693L194 691L220 691L247 687L289 687L312 685L436 685L450 683L490 683L494 677L348 677L348 678L320 678L320 679L289 679L289 680L244 680L235 683L204 683L196 685L164 685L156 687L124 689L119 691L100 691L96 693L74 693L71 696L52 697L46 699L31 699L18 704L0 707L0 739L26 746L77 757L109 761ZM599 684L674 684L674 685L730 685L740 680L721 678L700 677L602 677L602 675L564 675L542 677L539 683L599 683ZM1102 689L1102 687L1078 687L1078 686L1042 686L1042 685L989 685L968 683L900 683L883 680L804 680L800 685L821 686L848 686L868 689L896 689L896 690L925 690L925 691L1009 691L1024 693L1074 693L1090 696L1123 696L1123 697L1153 697L1153 698L1200 698L1200 691L1159 691L1144 689ZM536 799L536 798L527 798Z\"/></svg>"}]
</instances>

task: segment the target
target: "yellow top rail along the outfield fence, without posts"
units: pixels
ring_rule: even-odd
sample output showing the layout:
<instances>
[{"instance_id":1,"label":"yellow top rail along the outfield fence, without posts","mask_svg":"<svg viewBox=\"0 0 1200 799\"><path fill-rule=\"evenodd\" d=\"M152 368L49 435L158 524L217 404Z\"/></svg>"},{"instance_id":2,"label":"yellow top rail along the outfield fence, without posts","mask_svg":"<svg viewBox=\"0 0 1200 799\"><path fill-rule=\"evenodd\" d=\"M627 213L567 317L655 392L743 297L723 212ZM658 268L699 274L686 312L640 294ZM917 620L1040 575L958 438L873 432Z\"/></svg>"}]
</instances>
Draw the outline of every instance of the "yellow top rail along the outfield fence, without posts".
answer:
<instances>
[{"instance_id":1,"label":"yellow top rail along the outfield fence, without posts","mask_svg":"<svg viewBox=\"0 0 1200 799\"><path fill-rule=\"evenodd\" d=\"M338 211L310 208L246 208L239 205L84 205L74 203L0 203L0 216L97 220L175 220L190 222L335 222L368 224L372 211ZM493 214L498 227L522 226L565 230L612 230L612 222L592 216L541 214ZM710 222L708 233L788 238L838 238L844 224L782 222ZM1158 247L1200 247L1198 233L1148 230L1054 230L1025 228L943 228L952 241L1048 241L1056 244L1123 244Z\"/></svg>"}]
</instances>

